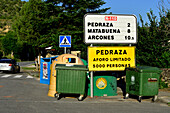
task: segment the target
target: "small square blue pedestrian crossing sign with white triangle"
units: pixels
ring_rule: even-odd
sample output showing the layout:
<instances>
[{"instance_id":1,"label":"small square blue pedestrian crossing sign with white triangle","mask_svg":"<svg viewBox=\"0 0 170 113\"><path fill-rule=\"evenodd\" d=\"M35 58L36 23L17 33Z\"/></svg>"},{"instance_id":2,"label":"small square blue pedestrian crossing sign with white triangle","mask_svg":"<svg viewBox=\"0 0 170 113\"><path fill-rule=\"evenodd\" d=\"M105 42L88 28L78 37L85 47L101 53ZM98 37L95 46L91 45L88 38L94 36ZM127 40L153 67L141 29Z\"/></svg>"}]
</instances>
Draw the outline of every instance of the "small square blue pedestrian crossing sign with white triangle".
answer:
<instances>
[{"instance_id":1,"label":"small square blue pedestrian crossing sign with white triangle","mask_svg":"<svg viewBox=\"0 0 170 113\"><path fill-rule=\"evenodd\" d=\"M59 36L59 47L71 47L71 36Z\"/></svg>"}]
</instances>

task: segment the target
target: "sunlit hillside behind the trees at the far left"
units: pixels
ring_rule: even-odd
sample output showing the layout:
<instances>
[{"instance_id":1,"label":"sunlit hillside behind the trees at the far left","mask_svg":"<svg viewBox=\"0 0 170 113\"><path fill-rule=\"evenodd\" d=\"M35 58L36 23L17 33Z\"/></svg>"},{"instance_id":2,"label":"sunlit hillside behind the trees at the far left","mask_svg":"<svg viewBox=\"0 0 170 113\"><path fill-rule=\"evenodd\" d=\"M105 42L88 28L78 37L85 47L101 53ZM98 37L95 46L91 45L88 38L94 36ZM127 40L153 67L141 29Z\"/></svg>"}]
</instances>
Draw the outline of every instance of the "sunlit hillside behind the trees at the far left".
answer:
<instances>
[{"instance_id":1,"label":"sunlit hillside behind the trees at the far left","mask_svg":"<svg viewBox=\"0 0 170 113\"><path fill-rule=\"evenodd\" d=\"M7 49L7 47L4 47L3 46L4 44L2 45L2 42L7 40L8 40L7 42L10 41L9 38L11 39L11 37L8 36L9 34L12 34L10 32L11 24L13 22L12 18L21 10L21 7L23 6L24 3L25 1L21 1L21 0L0 0L0 49L2 53L6 53L6 54L9 53L10 48ZM8 34L8 36L6 37L8 39L4 39L4 36L6 34ZM3 51L3 50L7 50L7 51Z\"/></svg>"}]
</instances>

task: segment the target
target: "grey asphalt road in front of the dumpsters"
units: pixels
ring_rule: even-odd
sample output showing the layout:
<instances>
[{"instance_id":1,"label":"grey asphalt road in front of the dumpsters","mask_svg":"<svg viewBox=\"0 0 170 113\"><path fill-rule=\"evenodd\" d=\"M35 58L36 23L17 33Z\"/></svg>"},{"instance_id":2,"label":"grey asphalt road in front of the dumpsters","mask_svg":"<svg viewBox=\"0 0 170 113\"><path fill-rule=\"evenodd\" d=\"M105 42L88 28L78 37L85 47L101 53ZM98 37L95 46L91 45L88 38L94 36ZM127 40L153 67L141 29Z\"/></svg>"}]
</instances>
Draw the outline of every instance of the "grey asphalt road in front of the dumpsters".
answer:
<instances>
[{"instance_id":1,"label":"grey asphalt road in front of the dumpsters","mask_svg":"<svg viewBox=\"0 0 170 113\"><path fill-rule=\"evenodd\" d=\"M22 75L22 76L21 76ZM27 73L0 73L0 113L168 113L170 107L150 101L117 101L48 97L48 85Z\"/></svg>"}]
</instances>

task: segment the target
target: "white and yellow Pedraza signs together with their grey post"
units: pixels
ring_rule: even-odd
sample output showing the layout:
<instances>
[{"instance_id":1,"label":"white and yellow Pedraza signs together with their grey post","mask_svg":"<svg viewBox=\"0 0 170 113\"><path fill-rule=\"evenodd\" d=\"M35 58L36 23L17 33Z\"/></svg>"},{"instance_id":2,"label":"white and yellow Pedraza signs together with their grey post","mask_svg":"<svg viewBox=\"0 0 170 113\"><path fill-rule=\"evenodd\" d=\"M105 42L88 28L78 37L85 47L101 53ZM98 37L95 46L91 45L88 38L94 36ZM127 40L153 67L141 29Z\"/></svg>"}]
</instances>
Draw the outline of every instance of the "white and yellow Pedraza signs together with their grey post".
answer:
<instances>
[{"instance_id":1,"label":"white and yellow Pedraza signs together with their grey post","mask_svg":"<svg viewBox=\"0 0 170 113\"><path fill-rule=\"evenodd\" d=\"M135 15L84 15L84 42L86 44L129 44L129 47L88 47L88 66L91 71L91 97L93 97L93 71L122 71L135 67L137 18Z\"/></svg>"}]
</instances>

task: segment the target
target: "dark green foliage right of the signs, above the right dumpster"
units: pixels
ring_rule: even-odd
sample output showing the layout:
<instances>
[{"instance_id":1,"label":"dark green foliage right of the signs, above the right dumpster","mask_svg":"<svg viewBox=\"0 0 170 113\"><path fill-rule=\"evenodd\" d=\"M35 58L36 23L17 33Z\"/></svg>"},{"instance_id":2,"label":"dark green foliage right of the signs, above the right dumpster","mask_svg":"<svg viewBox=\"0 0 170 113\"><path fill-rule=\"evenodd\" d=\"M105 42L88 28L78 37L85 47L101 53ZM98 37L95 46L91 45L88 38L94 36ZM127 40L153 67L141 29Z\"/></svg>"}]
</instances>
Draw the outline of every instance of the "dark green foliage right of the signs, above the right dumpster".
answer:
<instances>
[{"instance_id":1,"label":"dark green foliage right of the signs, above the right dumpster","mask_svg":"<svg viewBox=\"0 0 170 113\"><path fill-rule=\"evenodd\" d=\"M170 65L169 52L169 28L170 12L166 16L160 16L160 22L154 16L153 11L147 13L150 24L143 23L138 26L138 43L136 46L137 64L168 68Z\"/></svg>"}]
</instances>

